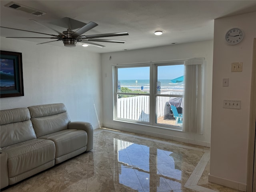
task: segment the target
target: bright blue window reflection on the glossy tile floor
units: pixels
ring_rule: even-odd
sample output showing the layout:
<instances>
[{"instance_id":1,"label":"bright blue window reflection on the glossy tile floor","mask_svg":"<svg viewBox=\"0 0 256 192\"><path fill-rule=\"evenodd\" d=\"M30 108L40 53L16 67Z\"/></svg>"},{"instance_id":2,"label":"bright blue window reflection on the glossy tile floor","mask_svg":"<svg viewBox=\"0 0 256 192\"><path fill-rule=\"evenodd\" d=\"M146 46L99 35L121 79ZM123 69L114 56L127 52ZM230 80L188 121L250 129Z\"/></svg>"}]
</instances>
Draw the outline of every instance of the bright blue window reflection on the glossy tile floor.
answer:
<instances>
[{"instance_id":1,"label":"bright blue window reflection on the glossy tile floor","mask_svg":"<svg viewBox=\"0 0 256 192\"><path fill-rule=\"evenodd\" d=\"M182 188L183 173L175 163L174 152L118 138L114 138L114 149L116 183L149 192Z\"/></svg>"}]
</instances>

